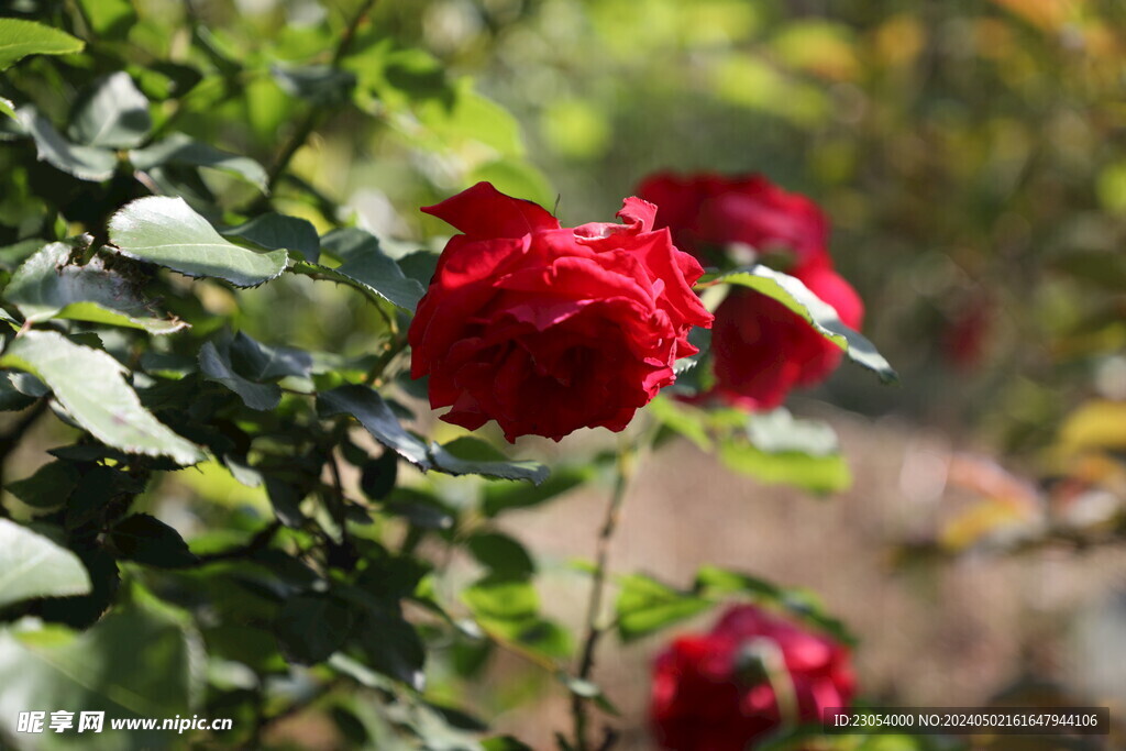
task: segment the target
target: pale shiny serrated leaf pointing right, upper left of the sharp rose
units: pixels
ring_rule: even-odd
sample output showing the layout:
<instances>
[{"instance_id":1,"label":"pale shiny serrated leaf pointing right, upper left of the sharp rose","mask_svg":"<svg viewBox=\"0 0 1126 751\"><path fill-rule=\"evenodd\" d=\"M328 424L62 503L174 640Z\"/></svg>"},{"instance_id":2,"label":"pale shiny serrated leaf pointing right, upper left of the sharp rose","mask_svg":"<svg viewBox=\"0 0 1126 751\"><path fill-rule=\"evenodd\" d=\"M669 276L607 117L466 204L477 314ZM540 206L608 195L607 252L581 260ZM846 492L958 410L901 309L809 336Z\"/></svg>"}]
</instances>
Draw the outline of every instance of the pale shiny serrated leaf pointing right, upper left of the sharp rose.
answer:
<instances>
[{"instance_id":1,"label":"pale shiny serrated leaf pointing right, upper left of the sharp rose","mask_svg":"<svg viewBox=\"0 0 1126 751\"><path fill-rule=\"evenodd\" d=\"M216 277L236 287L277 278L286 252L256 253L222 238L182 198L138 198L109 220L109 239L123 256L190 277Z\"/></svg>"}]
</instances>

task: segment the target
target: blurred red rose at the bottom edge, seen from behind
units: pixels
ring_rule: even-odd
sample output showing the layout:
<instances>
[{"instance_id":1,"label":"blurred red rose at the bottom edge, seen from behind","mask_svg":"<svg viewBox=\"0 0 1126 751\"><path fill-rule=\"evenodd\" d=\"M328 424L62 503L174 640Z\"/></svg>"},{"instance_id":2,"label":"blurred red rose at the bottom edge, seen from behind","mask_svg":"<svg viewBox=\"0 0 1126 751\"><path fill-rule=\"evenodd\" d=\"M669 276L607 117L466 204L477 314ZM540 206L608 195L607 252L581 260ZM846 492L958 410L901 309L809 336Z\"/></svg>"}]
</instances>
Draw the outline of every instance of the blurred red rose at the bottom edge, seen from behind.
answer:
<instances>
[{"instance_id":1,"label":"blurred red rose at the bottom edge, seen from behind","mask_svg":"<svg viewBox=\"0 0 1126 751\"><path fill-rule=\"evenodd\" d=\"M656 658L650 718L663 749L744 751L783 722L816 723L824 708L848 706L854 682L843 645L735 606L711 634L678 638Z\"/></svg>"}]
</instances>

